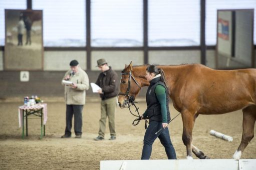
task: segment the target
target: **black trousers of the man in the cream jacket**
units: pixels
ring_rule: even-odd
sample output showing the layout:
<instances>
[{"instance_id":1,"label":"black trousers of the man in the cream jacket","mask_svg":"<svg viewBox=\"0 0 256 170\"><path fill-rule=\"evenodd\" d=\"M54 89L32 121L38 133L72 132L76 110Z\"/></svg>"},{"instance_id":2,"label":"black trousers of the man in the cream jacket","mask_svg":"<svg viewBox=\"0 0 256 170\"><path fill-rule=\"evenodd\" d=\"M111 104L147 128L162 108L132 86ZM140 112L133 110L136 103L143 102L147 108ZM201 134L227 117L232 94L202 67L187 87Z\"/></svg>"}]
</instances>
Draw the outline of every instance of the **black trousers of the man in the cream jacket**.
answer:
<instances>
[{"instance_id":1,"label":"black trousers of the man in the cream jacket","mask_svg":"<svg viewBox=\"0 0 256 170\"><path fill-rule=\"evenodd\" d=\"M82 134L82 111L84 105L66 104L66 129L65 134L71 135L72 118L74 114L74 130L76 135Z\"/></svg>"}]
</instances>

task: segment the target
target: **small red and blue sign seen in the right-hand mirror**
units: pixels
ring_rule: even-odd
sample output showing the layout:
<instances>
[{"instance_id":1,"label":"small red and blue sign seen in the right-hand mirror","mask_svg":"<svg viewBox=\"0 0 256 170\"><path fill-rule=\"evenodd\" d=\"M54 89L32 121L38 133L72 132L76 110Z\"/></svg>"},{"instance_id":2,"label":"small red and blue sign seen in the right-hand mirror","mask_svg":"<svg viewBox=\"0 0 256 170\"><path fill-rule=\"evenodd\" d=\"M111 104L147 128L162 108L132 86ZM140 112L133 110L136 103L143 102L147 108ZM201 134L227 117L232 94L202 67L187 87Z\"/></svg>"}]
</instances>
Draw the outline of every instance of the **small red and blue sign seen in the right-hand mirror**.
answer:
<instances>
[{"instance_id":1,"label":"small red and blue sign seen in the right-hand mirror","mask_svg":"<svg viewBox=\"0 0 256 170\"><path fill-rule=\"evenodd\" d=\"M224 40L229 39L229 21L218 18L218 37Z\"/></svg>"}]
</instances>

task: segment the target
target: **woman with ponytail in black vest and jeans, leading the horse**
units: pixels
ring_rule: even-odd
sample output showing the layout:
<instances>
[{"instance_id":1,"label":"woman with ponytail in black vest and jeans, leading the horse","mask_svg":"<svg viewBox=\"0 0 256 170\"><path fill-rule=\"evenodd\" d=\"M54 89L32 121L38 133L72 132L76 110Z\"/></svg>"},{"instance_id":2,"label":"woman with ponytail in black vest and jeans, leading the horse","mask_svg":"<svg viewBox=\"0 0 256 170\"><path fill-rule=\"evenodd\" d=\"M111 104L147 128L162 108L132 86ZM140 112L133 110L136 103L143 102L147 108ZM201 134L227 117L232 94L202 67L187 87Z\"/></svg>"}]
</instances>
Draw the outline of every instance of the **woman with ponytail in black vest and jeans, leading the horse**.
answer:
<instances>
[{"instance_id":1,"label":"woman with ponytail in black vest and jeans, leading the horse","mask_svg":"<svg viewBox=\"0 0 256 170\"><path fill-rule=\"evenodd\" d=\"M141 119L148 118L149 125L146 129L141 159L149 159L152 144L158 137L165 148L168 159L176 159L176 153L171 142L168 121L170 121L168 84L164 72L156 65L149 65L146 69L146 79L150 82L147 90L147 109ZM161 129L159 133L157 131ZM156 134L157 133L157 134Z\"/></svg>"}]
</instances>

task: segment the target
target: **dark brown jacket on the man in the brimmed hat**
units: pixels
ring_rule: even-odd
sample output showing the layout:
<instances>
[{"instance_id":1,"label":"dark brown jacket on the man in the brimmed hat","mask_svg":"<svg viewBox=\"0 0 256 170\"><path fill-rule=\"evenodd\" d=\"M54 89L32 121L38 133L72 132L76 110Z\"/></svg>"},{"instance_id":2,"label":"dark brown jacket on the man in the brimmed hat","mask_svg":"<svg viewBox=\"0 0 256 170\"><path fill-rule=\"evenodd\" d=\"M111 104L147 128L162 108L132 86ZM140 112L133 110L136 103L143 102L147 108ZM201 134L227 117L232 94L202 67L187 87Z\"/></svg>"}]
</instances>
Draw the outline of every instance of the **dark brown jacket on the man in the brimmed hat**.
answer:
<instances>
[{"instance_id":1,"label":"dark brown jacket on the man in the brimmed hat","mask_svg":"<svg viewBox=\"0 0 256 170\"><path fill-rule=\"evenodd\" d=\"M103 94L100 94L102 100L117 96L118 94L118 76L116 71L111 67L101 72L98 76L96 84L102 88Z\"/></svg>"}]
</instances>

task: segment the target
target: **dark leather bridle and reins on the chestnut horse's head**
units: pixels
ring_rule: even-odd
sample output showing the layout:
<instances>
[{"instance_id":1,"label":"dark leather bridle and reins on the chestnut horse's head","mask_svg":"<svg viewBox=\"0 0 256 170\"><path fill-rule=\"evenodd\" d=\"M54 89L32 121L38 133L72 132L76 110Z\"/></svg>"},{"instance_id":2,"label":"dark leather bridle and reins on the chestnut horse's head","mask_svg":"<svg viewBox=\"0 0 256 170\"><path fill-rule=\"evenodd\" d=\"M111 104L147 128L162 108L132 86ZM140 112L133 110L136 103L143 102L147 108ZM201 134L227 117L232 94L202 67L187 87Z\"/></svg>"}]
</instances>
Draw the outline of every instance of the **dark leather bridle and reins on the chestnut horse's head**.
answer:
<instances>
[{"instance_id":1,"label":"dark leather bridle and reins on the chestnut horse's head","mask_svg":"<svg viewBox=\"0 0 256 170\"><path fill-rule=\"evenodd\" d=\"M132 122L132 125L137 125L137 124L139 124L139 122L141 120L141 116L140 116L140 113L139 113L139 108L135 105L135 103L137 103L137 102L134 101L134 99L135 99L134 96L133 95L132 96L129 95L129 92L130 92L130 89L131 89L131 79L134 80L134 82L140 87L140 89L141 89L141 86L139 85L138 81L134 78L134 76L132 76L132 70L130 70L129 72L122 71L121 72L121 76L122 75L129 75L128 86L127 86L127 89L126 89L125 93L119 92L118 95L124 95L125 98L128 97L128 99L125 99L124 102L128 104L128 108L130 110L130 113L132 115L138 117L135 120L133 120L133 122ZM121 82L121 83L123 83L123 82ZM132 113L131 108L130 108L131 105L134 105L134 107L136 108L135 111L137 112L138 115Z\"/></svg>"}]
</instances>

